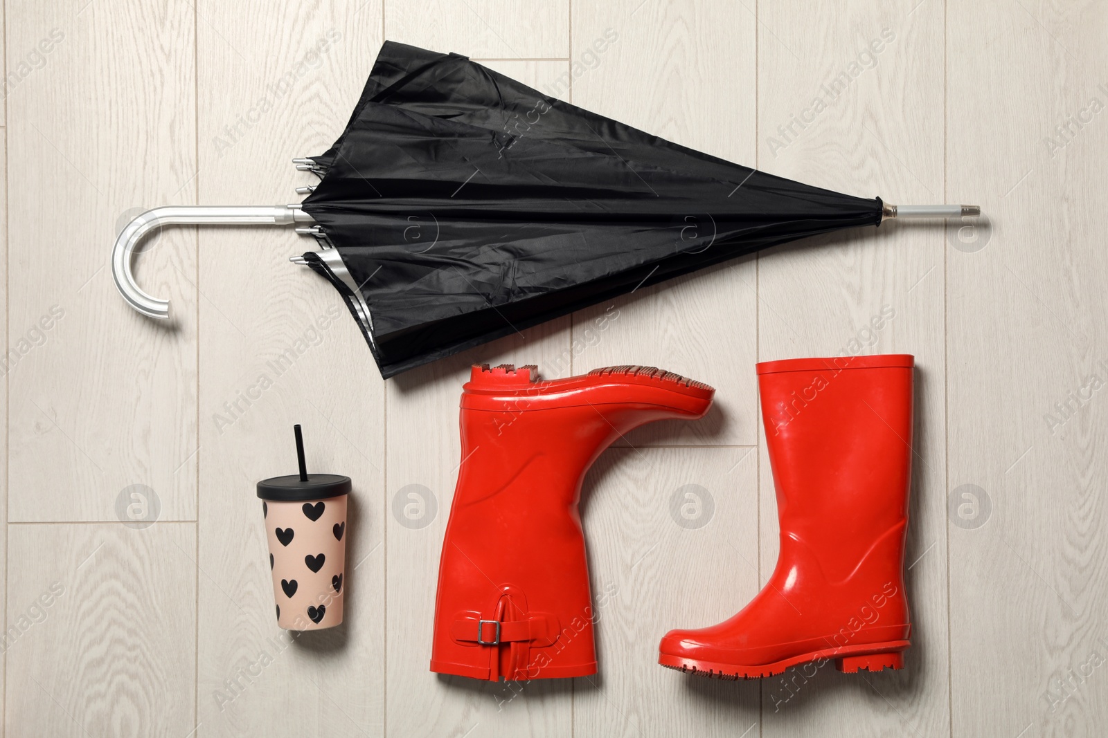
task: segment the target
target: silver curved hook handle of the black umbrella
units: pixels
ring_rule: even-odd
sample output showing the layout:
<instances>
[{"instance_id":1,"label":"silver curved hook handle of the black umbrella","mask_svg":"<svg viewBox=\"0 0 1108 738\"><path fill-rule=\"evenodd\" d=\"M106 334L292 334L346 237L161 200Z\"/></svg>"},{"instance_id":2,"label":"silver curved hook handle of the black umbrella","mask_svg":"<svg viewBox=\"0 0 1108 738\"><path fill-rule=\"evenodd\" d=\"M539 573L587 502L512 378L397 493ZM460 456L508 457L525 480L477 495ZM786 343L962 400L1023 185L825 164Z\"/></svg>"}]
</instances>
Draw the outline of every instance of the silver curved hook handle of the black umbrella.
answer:
<instances>
[{"instance_id":1,"label":"silver curved hook handle of the black umbrella","mask_svg":"<svg viewBox=\"0 0 1108 738\"><path fill-rule=\"evenodd\" d=\"M158 300L140 289L135 283L131 262L138 241L155 228L162 226L290 226L298 222L315 222L315 219L293 205L260 206L206 206L171 205L143 212L127 224L115 239L112 249L112 279L127 304L151 318L168 318L170 301Z\"/></svg>"}]
</instances>

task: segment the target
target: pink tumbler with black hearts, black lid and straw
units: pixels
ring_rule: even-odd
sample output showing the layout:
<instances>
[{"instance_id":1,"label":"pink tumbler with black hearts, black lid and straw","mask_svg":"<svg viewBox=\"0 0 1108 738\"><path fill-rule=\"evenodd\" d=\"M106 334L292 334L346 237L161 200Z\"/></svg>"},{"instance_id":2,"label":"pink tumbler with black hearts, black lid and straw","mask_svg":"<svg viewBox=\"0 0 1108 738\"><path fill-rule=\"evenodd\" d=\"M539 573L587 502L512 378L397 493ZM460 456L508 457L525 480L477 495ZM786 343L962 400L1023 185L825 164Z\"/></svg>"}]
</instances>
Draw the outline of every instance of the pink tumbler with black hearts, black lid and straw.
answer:
<instances>
[{"instance_id":1,"label":"pink tumbler with black hearts, black lid and straw","mask_svg":"<svg viewBox=\"0 0 1108 738\"><path fill-rule=\"evenodd\" d=\"M269 541L277 625L317 631L342 622L346 512L350 477L308 474L296 433L300 474L258 482Z\"/></svg>"}]
</instances>

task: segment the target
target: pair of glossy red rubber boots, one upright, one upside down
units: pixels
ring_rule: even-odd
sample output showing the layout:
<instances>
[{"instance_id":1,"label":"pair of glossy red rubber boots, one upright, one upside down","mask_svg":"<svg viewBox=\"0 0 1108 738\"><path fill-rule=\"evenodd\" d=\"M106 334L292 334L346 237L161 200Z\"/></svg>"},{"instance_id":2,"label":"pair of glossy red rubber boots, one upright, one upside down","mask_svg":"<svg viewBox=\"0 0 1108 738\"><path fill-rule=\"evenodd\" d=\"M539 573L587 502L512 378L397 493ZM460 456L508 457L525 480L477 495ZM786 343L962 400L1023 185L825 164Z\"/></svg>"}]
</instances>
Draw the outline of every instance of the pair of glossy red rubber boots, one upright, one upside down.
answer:
<instances>
[{"instance_id":1,"label":"pair of glossy red rubber boots, one upright, one upside down","mask_svg":"<svg viewBox=\"0 0 1108 738\"><path fill-rule=\"evenodd\" d=\"M903 666L913 364L895 354L757 365L777 568L733 617L666 634L661 665L724 678L824 659L844 672ZM474 366L431 671L492 680L595 674L582 479L628 430L702 417L714 394L652 367L542 382L533 366Z\"/></svg>"}]
</instances>

